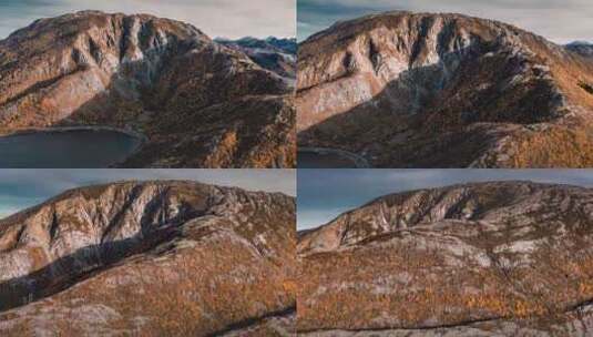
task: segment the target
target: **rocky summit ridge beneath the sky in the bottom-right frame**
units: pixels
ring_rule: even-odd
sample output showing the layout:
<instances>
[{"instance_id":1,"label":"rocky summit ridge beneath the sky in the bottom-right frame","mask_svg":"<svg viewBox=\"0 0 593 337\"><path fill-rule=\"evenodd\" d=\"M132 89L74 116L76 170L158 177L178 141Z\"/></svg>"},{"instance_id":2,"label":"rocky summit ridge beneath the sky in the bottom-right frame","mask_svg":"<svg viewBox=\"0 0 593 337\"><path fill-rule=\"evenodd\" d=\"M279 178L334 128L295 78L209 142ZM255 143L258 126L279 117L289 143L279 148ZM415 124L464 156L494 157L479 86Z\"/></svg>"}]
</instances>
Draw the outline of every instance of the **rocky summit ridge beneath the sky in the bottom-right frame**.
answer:
<instances>
[{"instance_id":1,"label":"rocky summit ridge beneath the sky in the bottom-right frame","mask_svg":"<svg viewBox=\"0 0 593 337\"><path fill-rule=\"evenodd\" d=\"M529 181L467 183L378 197L303 235L303 253L324 252L372 241L387 233L446 221L501 222L523 216L523 210L549 214L572 196L591 197L591 190ZM558 198L556 198L558 197ZM545 203L549 204L545 204Z\"/></svg>"}]
</instances>

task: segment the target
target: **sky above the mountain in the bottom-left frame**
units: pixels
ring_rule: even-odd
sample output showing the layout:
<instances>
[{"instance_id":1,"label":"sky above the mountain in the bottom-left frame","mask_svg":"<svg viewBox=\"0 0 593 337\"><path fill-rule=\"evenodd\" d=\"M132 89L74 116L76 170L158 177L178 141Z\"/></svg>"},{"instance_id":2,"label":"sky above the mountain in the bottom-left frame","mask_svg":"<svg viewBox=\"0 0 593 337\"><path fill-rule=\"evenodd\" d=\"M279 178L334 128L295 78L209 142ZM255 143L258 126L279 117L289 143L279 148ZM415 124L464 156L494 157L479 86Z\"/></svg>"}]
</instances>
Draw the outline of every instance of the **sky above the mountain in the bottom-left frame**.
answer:
<instances>
[{"instance_id":1,"label":"sky above the mountain in the bottom-left frame","mask_svg":"<svg viewBox=\"0 0 593 337\"><path fill-rule=\"evenodd\" d=\"M0 218L65 190L124 180L190 180L296 195L295 170L0 170Z\"/></svg>"}]
</instances>

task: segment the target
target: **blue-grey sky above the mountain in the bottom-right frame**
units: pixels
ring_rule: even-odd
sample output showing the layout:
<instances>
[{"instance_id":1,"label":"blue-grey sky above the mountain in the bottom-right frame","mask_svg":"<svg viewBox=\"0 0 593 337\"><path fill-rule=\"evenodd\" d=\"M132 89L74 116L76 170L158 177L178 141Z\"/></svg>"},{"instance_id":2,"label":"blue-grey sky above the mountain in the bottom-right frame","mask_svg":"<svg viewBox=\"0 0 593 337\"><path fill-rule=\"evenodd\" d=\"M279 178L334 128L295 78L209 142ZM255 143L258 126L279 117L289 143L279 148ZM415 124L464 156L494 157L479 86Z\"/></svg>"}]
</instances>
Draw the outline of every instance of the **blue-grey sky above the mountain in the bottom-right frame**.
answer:
<instances>
[{"instance_id":1,"label":"blue-grey sky above the mountain in the bottom-right frame","mask_svg":"<svg viewBox=\"0 0 593 337\"><path fill-rule=\"evenodd\" d=\"M593 170L298 170L297 228L315 228L387 194L484 181L593 187Z\"/></svg>"}]
</instances>

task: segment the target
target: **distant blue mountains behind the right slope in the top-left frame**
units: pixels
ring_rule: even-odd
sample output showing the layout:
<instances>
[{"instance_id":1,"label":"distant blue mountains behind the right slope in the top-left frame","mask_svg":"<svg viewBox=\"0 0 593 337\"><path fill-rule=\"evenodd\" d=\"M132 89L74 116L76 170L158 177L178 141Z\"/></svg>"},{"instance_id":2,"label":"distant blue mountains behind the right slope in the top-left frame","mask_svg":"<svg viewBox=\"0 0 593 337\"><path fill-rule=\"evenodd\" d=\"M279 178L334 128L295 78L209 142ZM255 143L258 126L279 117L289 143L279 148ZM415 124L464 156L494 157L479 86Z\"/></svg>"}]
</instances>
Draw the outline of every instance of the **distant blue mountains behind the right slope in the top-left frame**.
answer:
<instances>
[{"instance_id":1,"label":"distant blue mountains behind the right slope in the top-left frame","mask_svg":"<svg viewBox=\"0 0 593 337\"><path fill-rule=\"evenodd\" d=\"M280 76L296 79L296 39L267 38L265 40L256 38L243 38L239 40L216 39L216 42L228 48L246 53L255 63L262 68L273 71Z\"/></svg>"}]
</instances>

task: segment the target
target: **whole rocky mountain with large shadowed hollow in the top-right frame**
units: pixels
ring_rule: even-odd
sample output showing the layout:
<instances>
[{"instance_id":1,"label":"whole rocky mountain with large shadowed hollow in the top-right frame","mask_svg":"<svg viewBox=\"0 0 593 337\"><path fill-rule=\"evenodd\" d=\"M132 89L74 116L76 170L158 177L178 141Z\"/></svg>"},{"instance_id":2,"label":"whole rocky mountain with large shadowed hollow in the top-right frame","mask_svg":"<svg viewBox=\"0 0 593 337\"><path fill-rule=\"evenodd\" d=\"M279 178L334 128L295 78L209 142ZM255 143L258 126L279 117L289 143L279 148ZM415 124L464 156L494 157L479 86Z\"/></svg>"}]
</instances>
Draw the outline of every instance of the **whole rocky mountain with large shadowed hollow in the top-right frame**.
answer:
<instances>
[{"instance_id":1,"label":"whole rocky mountain with large shadowed hollow in the top-right frame","mask_svg":"<svg viewBox=\"0 0 593 337\"><path fill-rule=\"evenodd\" d=\"M593 61L510 24L387 12L299 44L299 145L377 167L593 164Z\"/></svg>"}]
</instances>

